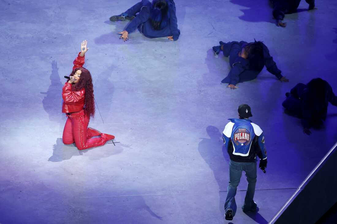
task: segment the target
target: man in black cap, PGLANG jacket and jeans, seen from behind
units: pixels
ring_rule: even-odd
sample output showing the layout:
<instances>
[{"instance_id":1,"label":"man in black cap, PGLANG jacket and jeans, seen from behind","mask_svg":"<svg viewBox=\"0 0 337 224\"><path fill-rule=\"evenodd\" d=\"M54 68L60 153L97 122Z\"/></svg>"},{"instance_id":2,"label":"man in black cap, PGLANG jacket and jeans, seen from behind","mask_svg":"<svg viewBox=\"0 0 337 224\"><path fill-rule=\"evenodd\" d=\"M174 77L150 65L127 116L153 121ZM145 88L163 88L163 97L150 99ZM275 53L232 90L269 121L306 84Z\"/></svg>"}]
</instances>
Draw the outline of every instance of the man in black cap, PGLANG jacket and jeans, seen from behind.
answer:
<instances>
[{"instance_id":1,"label":"man in black cap, PGLANG jacket and jeans, seen from behind","mask_svg":"<svg viewBox=\"0 0 337 224\"><path fill-rule=\"evenodd\" d=\"M261 128L248 118L252 116L247 104L238 108L239 119L231 118L223 130L223 143L231 161L229 162L229 184L225 202L225 219L232 220L235 216L237 205L235 195L240 183L242 171L245 171L248 187L243 212L256 210L257 205L253 200L256 184L256 155L260 158L259 167L265 172L267 168L267 150L265 137Z\"/></svg>"}]
</instances>

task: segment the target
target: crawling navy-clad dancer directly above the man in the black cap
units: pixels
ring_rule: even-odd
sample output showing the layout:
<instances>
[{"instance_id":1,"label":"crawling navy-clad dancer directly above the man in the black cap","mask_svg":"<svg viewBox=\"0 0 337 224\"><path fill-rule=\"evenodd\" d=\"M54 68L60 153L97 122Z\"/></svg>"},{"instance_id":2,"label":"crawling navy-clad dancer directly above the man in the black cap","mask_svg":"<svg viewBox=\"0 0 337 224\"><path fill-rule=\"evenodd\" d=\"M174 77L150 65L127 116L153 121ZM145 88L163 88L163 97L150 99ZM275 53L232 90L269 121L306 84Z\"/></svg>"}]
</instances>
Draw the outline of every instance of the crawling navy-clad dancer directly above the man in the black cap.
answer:
<instances>
[{"instance_id":1,"label":"crawling navy-clad dancer directly above the man in the black cap","mask_svg":"<svg viewBox=\"0 0 337 224\"><path fill-rule=\"evenodd\" d=\"M220 41L219 43L219 46L213 47L214 53L219 54L222 50L223 55L229 57L229 65L232 68L227 77L221 81L222 83L228 83L227 87L235 89L238 88L236 84L239 82L255 79L264 66L280 81L289 81L281 75L281 70L277 68L267 46L261 41L251 43L245 41L224 43Z\"/></svg>"}]
</instances>

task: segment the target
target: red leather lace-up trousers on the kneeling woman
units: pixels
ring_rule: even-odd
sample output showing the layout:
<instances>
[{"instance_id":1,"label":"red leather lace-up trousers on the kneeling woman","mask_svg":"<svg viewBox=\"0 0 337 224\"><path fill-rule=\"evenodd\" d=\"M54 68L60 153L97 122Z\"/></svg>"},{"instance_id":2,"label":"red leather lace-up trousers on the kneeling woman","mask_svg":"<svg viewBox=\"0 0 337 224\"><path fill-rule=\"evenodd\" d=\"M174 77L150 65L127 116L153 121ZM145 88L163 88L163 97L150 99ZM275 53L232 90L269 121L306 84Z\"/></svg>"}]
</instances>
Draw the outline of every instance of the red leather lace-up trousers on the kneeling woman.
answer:
<instances>
[{"instance_id":1,"label":"red leather lace-up trousers on the kneeling woman","mask_svg":"<svg viewBox=\"0 0 337 224\"><path fill-rule=\"evenodd\" d=\"M92 138L93 134L88 129L90 117L84 114L84 110L67 114L67 121L63 129L63 143L72 144L75 142L79 150L88 149L104 145L106 140L102 137Z\"/></svg>"}]
</instances>

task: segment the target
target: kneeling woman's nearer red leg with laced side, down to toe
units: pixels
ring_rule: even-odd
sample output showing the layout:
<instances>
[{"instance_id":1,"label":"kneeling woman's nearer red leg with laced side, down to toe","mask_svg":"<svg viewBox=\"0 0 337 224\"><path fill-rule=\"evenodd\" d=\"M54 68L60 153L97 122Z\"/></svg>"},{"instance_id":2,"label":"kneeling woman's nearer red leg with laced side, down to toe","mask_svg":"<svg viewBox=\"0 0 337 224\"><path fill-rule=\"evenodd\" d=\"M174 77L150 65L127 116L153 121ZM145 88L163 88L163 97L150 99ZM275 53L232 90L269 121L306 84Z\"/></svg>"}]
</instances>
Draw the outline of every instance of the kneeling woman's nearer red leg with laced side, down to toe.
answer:
<instances>
[{"instance_id":1,"label":"kneeling woman's nearer red leg with laced side, down to toe","mask_svg":"<svg viewBox=\"0 0 337 224\"><path fill-rule=\"evenodd\" d=\"M85 116L84 111L70 116L72 123L72 132L76 147L79 150L88 149L96 146L104 145L107 141L115 138L113 135L101 134L99 138L87 138L88 123L90 118Z\"/></svg>"}]
</instances>

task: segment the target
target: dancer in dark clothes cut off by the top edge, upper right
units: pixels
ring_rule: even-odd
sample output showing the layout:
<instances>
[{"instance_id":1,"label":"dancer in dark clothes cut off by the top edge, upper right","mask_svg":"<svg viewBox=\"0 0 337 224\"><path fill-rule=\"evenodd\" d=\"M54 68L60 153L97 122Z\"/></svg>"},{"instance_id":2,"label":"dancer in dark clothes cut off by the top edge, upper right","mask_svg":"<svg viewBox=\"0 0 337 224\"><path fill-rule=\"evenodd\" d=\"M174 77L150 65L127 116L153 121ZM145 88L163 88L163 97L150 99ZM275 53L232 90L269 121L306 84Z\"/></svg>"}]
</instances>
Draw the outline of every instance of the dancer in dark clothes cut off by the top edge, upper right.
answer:
<instances>
[{"instance_id":1,"label":"dancer in dark clothes cut off by the top edge, upper right","mask_svg":"<svg viewBox=\"0 0 337 224\"><path fill-rule=\"evenodd\" d=\"M315 8L315 0L305 0L309 4L309 10ZM287 23L283 23L285 14L296 12L301 0L270 0L273 4L273 17L276 20L277 26L286 27Z\"/></svg>"}]
</instances>

